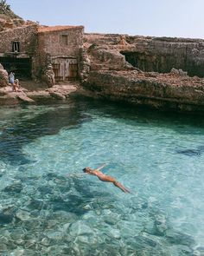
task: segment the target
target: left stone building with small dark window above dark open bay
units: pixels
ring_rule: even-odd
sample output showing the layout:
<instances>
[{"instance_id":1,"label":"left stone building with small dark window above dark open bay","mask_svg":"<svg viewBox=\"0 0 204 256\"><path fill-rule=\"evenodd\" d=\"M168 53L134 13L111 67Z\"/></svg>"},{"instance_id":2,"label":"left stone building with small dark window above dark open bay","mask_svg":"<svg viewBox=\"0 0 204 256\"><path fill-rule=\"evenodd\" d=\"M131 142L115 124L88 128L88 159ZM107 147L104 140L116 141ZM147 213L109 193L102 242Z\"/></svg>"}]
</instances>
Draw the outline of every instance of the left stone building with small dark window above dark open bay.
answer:
<instances>
[{"instance_id":1,"label":"left stone building with small dark window above dark open bay","mask_svg":"<svg viewBox=\"0 0 204 256\"><path fill-rule=\"evenodd\" d=\"M32 24L0 32L0 63L8 72L31 77L37 46L38 25Z\"/></svg>"}]
</instances>

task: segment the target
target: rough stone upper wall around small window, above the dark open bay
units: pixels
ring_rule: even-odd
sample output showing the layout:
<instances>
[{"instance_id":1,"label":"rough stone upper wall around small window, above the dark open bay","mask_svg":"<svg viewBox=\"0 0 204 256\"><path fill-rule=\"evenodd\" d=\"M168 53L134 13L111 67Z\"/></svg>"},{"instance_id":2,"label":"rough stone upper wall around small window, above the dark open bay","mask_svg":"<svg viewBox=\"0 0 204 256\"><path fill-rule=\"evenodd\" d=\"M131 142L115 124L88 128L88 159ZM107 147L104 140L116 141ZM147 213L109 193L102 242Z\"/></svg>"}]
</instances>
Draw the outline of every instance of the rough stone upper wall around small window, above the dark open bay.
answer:
<instances>
[{"instance_id":1,"label":"rough stone upper wall around small window, above the dark open bay","mask_svg":"<svg viewBox=\"0 0 204 256\"><path fill-rule=\"evenodd\" d=\"M38 25L22 26L13 30L0 32L0 53L6 54L12 51L12 42L20 42L20 52L33 56L36 46Z\"/></svg>"}]
</instances>

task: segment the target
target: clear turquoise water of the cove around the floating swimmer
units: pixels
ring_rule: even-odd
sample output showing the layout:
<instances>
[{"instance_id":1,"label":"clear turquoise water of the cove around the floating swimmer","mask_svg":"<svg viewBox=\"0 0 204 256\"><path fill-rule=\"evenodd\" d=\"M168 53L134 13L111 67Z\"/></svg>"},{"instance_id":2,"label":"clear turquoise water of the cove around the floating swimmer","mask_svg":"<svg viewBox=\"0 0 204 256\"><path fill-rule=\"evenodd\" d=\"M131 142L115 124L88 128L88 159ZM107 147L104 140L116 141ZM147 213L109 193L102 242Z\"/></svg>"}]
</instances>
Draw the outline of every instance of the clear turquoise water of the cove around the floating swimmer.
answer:
<instances>
[{"instance_id":1,"label":"clear turquoise water of the cove around the floating swimmer","mask_svg":"<svg viewBox=\"0 0 204 256\"><path fill-rule=\"evenodd\" d=\"M204 255L199 117L80 99L0 128L1 255ZM77 175L103 163L131 194Z\"/></svg>"}]
</instances>

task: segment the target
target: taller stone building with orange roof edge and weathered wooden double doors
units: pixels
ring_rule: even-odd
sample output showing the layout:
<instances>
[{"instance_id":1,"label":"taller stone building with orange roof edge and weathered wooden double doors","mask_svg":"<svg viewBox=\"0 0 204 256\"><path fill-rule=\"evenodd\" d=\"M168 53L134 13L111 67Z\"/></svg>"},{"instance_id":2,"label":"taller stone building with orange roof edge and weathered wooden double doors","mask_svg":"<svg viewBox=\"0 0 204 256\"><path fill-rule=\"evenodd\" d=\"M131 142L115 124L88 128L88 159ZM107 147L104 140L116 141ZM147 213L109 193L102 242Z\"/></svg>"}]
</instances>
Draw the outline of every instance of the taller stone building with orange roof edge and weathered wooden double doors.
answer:
<instances>
[{"instance_id":1,"label":"taller stone building with orange roof edge and weathered wooden double doors","mask_svg":"<svg viewBox=\"0 0 204 256\"><path fill-rule=\"evenodd\" d=\"M77 78L83 32L83 26L40 27L35 69L52 64L55 81ZM43 72L43 69L35 73L39 71Z\"/></svg>"}]
</instances>

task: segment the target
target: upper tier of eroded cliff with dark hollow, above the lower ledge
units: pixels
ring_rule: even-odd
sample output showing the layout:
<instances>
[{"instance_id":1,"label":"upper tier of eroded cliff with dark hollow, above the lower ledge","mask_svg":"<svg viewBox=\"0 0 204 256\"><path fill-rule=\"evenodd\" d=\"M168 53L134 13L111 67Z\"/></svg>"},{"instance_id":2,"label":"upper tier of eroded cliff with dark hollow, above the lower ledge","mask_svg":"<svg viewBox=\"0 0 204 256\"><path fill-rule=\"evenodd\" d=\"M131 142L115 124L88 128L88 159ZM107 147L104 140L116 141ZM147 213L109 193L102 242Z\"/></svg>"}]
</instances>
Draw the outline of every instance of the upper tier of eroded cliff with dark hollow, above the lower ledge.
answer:
<instances>
[{"instance_id":1,"label":"upper tier of eroded cliff with dark hollow, above the lower ledge","mask_svg":"<svg viewBox=\"0 0 204 256\"><path fill-rule=\"evenodd\" d=\"M143 72L158 73L169 73L175 68L187 71L189 76L204 77L202 39L86 34L84 45L92 70L99 64L99 69L122 70L133 66Z\"/></svg>"}]
</instances>

